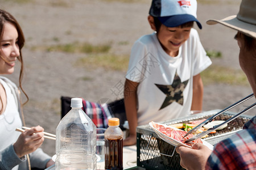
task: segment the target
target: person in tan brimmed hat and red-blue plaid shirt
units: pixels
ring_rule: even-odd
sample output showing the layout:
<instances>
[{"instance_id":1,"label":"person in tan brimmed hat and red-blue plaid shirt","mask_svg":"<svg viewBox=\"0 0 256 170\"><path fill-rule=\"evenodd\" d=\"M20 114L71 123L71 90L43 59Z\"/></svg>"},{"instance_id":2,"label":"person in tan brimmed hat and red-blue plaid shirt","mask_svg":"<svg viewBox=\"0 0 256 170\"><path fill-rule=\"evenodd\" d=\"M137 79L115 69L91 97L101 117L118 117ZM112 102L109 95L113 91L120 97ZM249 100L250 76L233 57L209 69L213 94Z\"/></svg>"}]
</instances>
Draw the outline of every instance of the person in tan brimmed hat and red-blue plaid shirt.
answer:
<instances>
[{"instance_id":1,"label":"person in tan brimmed hat and red-blue plaid shirt","mask_svg":"<svg viewBox=\"0 0 256 170\"><path fill-rule=\"evenodd\" d=\"M256 1L242 0L237 15L222 20L210 19L237 30L239 61L256 97ZM192 148L177 147L180 165L186 169L256 169L256 116L243 129L214 146L213 151L201 143Z\"/></svg>"}]
</instances>

